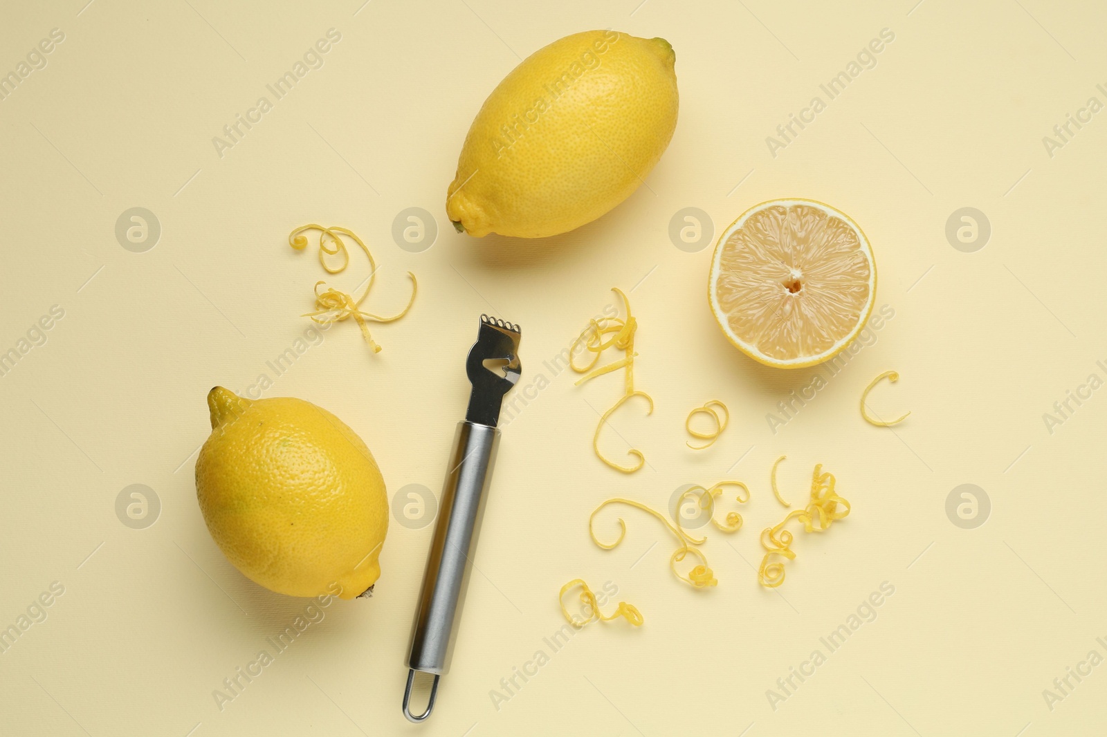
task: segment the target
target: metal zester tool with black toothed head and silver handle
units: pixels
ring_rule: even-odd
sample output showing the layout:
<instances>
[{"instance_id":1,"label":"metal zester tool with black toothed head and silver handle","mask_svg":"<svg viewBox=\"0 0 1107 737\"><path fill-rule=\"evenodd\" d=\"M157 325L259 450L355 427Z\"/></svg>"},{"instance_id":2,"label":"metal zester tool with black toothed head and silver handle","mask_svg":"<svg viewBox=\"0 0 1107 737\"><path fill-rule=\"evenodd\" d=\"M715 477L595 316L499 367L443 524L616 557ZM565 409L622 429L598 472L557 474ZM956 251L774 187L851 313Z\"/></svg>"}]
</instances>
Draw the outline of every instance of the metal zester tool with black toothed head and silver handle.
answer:
<instances>
[{"instance_id":1,"label":"metal zester tool with black toothed head and silver handle","mask_svg":"<svg viewBox=\"0 0 1107 737\"><path fill-rule=\"evenodd\" d=\"M457 424L454 435L407 660L411 669L403 710L411 722L423 722L431 716L438 678L449 669L499 444L496 424L504 395L518 383L523 372L520 338L518 325L483 314L477 342L465 362L473 392L465 419ZM426 710L420 715L412 714L410 708L416 671L434 675Z\"/></svg>"}]
</instances>

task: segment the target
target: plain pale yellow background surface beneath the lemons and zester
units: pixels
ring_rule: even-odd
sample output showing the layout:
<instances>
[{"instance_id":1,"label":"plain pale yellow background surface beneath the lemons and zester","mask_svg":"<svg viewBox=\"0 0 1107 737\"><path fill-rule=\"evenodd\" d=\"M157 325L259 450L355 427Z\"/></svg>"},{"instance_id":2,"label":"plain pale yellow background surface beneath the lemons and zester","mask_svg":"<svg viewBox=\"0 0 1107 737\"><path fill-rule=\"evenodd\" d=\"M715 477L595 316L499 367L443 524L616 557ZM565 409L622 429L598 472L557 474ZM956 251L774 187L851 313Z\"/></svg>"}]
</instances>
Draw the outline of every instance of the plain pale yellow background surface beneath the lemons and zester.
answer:
<instances>
[{"instance_id":1,"label":"plain pale yellow background surface beneath the lemons and zester","mask_svg":"<svg viewBox=\"0 0 1107 737\"><path fill-rule=\"evenodd\" d=\"M0 624L51 582L64 585L48 619L0 654L0 733L1103 731L1107 668L1052 712L1042 695L1090 650L1107 655L1096 642L1107 635L1096 439L1107 396L1094 394L1052 435L1043 421L1090 373L1107 377L1095 363L1107 360L1107 117L1052 158L1042 142L1089 96L1107 103L1096 90L1107 86L1100 4L83 3L8 3L0 22L2 72L51 29L65 34L0 102L0 349L51 305L65 311L0 377ZM518 58L608 27L676 50L680 123L649 186L559 238L455 235L445 189L480 102ZM342 35L324 65L220 158L213 136L330 28ZM896 40L877 66L770 156L765 137L883 28ZM830 203L866 229L877 305L894 319L773 434L766 413L818 370L763 369L731 347L704 300L711 248L685 252L668 233L684 207L710 214L717 233L783 196ZM132 207L161 222L144 253L114 235ZM407 207L434 215L430 250L393 241ZM962 207L992 226L973 253L944 235ZM437 491L480 312L521 323L524 382L550 380L505 429L482 573L423 726L403 719L400 700L431 527L393 525L375 598L329 606L221 712L211 694L308 603L230 567L204 527L192 468L208 434L205 393L271 373L266 362L308 326L298 315L324 274L284 239L309 221L368 239L382 266L371 307L401 304L407 270L421 291L405 320L374 330L382 353L341 324L266 395L337 413L372 448L390 492ZM352 288L364 273L355 255L337 283ZM650 417L628 406L604 435L613 455L625 442L645 453L649 467L630 477L589 447L592 407L610 405L620 380L580 388L542 365L613 286L633 289L638 383L656 401ZM857 411L863 386L889 369L902 380L881 386L875 409L912 412L893 432ZM730 405L733 423L694 454L684 417L710 398ZM780 454L787 496L800 498L823 463L853 513L826 536L800 536L774 593L753 567L758 531L782 517L768 491ZM747 481L753 500L745 529L711 533L703 548L717 589L671 577L672 541L644 515L627 515L613 551L589 541L588 515L610 496L663 507L682 484L722 478ZM116 517L131 484L161 500L146 529ZM946 517L961 484L991 499L977 529ZM587 627L497 710L489 692L546 648L561 624L557 590L577 577L613 582L645 625ZM896 593L876 621L774 710L766 691L884 581Z\"/></svg>"}]
</instances>

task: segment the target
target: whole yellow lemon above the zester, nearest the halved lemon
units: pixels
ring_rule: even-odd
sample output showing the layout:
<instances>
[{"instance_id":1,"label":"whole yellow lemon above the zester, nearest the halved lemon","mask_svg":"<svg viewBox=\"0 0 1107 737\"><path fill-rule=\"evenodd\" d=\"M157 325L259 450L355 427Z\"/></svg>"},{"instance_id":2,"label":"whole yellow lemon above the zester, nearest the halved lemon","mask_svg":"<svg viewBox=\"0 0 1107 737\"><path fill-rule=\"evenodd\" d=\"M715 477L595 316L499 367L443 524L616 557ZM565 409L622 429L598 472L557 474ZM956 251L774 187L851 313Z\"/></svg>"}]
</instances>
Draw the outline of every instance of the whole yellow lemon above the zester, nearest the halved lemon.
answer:
<instances>
[{"instance_id":1,"label":"whole yellow lemon above the zester, nearest the halved lemon","mask_svg":"<svg viewBox=\"0 0 1107 737\"><path fill-rule=\"evenodd\" d=\"M536 51L469 127L446 214L472 236L542 238L630 197L676 127L673 48L587 31Z\"/></svg>"}]
</instances>

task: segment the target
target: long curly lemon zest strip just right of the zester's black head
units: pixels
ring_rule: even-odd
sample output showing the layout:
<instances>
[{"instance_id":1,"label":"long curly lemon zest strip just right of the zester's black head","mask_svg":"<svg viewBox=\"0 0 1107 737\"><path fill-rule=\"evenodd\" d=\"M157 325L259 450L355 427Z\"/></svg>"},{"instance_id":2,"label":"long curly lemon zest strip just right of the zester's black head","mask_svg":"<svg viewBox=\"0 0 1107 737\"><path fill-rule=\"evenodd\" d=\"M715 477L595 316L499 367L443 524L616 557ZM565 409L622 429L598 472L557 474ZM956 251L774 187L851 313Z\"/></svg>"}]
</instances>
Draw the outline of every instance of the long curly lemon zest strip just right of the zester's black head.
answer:
<instances>
[{"instance_id":1,"label":"long curly lemon zest strip just right of the zester's black head","mask_svg":"<svg viewBox=\"0 0 1107 737\"><path fill-rule=\"evenodd\" d=\"M645 392L638 392L634 390L634 356L638 353L634 352L634 331L638 330L638 320L630 311L630 300L618 287L612 287L611 291L619 294L622 299L623 305L627 309L627 316L624 319L619 318L600 318L590 320L588 326L577 335L577 339L569 346L569 366L572 367L578 374L584 374L577 381L577 386L583 384L590 378L596 378L597 376L602 376L603 374L609 374L613 371L619 371L620 369L625 369L623 374L623 395L619 397L619 401L611 405L607 412L600 416L600 422L596 426L596 433L592 435L592 450L596 451L596 457L602 460L604 464L614 468L623 474L633 474L634 471L642 468L645 465L645 456L642 451L637 448L631 448L628 450L628 455L638 458L638 463L633 466L621 466L609 458L606 458L600 451L600 430L603 425L607 424L608 418L614 413L615 409L621 407L627 399L632 396L642 396L650 403L650 409L645 413L648 415L653 414L653 397L651 397ZM591 360L584 365L577 365L576 355L581 352L579 349L583 347L583 353L591 353ZM622 359L612 361L611 363L596 367L596 364L600 361L600 354L603 353L609 347L614 347L624 353Z\"/></svg>"}]
</instances>

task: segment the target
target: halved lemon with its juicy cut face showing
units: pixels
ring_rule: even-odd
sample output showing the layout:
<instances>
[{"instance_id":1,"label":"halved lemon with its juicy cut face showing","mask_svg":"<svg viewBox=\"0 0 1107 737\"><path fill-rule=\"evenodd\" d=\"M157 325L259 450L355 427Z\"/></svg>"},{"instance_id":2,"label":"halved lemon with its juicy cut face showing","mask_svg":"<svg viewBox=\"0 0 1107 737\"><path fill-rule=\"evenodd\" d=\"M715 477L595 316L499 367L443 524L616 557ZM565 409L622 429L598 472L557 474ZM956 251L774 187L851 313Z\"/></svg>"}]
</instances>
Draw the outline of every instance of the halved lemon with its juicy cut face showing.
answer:
<instances>
[{"instance_id":1,"label":"halved lemon with its juicy cut face showing","mask_svg":"<svg viewBox=\"0 0 1107 737\"><path fill-rule=\"evenodd\" d=\"M779 369L840 353L869 319L876 294L877 264L857 224L798 198L755 205L723 231L707 282L726 338Z\"/></svg>"}]
</instances>

